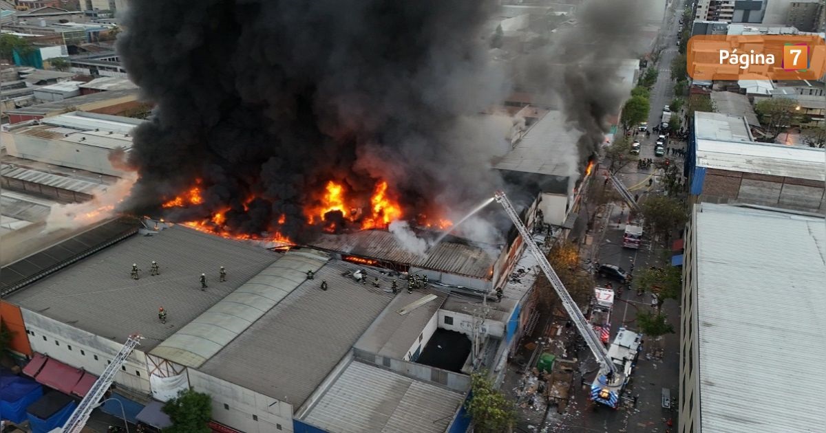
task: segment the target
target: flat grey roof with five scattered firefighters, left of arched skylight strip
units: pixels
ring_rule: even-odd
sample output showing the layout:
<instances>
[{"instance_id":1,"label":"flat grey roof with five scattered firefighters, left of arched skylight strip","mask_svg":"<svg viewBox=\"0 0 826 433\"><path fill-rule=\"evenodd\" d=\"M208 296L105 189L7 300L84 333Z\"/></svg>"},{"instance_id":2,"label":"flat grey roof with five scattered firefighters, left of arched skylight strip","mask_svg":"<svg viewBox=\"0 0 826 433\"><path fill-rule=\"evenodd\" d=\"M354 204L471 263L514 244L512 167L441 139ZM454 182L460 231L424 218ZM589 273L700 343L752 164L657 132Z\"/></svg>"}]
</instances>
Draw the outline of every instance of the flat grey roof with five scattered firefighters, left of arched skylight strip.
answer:
<instances>
[{"instance_id":1,"label":"flat grey roof with five scattered firefighters, left of arched skylight strip","mask_svg":"<svg viewBox=\"0 0 826 433\"><path fill-rule=\"evenodd\" d=\"M8 297L12 304L116 341L139 330L149 351L207 311L278 258L244 242L175 226L154 236L132 236ZM152 261L159 276L150 276ZM143 270L130 278L132 263ZM218 282L225 266L227 281ZM199 275L209 288L200 290ZM166 324L158 308L169 312Z\"/></svg>"}]
</instances>

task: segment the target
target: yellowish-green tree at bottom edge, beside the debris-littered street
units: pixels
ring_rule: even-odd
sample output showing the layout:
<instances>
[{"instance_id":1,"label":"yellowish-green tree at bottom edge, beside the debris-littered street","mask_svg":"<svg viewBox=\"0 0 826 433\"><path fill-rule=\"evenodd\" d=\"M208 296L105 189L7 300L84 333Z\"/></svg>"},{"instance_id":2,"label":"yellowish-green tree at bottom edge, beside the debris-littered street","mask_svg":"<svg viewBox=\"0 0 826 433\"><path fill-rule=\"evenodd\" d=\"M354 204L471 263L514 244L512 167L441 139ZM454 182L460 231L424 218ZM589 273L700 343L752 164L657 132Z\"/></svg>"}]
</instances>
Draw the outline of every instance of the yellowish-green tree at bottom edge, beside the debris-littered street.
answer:
<instances>
[{"instance_id":1,"label":"yellowish-green tree at bottom edge, beside the debris-littered street","mask_svg":"<svg viewBox=\"0 0 826 433\"><path fill-rule=\"evenodd\" d=\"M472 418L473 431L499 433L509 431L516 420L516 411L505 394L493 388L487 372L471 374L472 397L465 402Z\"/></svg>"}]
</instances>

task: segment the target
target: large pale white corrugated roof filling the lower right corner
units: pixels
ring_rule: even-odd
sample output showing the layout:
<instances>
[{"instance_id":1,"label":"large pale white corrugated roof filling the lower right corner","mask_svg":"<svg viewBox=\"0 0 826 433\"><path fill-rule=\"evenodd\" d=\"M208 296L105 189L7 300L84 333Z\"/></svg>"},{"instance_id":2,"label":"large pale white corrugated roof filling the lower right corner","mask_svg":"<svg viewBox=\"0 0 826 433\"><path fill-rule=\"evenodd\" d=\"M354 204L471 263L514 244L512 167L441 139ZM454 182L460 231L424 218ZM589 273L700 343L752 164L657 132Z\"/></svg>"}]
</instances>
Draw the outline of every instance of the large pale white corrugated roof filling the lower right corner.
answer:
<instances>
[{"instance_id":1,"label":"large pale white corrugated roof filling the lower right corner","mask_svg":"<svg viewBox=\"0 0 826 433\"><path fill-rule=\"evenodd\" d=\"M823 431L824 219L704 203L695 233L703 433Z\"/></svg>"}]
</instances>

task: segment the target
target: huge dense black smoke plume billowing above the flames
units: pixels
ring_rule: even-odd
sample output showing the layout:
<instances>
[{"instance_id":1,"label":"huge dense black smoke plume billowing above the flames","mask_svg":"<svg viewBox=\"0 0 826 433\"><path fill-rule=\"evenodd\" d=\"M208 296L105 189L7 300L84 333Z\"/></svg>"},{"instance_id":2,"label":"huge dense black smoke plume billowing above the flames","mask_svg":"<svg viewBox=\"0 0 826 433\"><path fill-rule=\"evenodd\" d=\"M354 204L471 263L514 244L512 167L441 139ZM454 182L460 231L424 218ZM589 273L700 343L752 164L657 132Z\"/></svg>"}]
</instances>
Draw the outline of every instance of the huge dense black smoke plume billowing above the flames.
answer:
<instances>
[{"instance_id":1,"label":"huge dense black smoke plume billowing above the flames","mask_svg":"<svg viewBox=\"0 0 826 433\"><path fill-rule=\"evenodd\" d=\"M500 180L487 161L507 149L499 125L478 115L506 91L482 40L494 6L133 2L117 49L156 106L135 130L140 180L125 207L157 214L200 180L203 204L169 218L229 207L230 232L301 239L318 229L303 209L330 180L367 205L385 179L411 212L489 196Z\"/></svg>"}]
</instances>

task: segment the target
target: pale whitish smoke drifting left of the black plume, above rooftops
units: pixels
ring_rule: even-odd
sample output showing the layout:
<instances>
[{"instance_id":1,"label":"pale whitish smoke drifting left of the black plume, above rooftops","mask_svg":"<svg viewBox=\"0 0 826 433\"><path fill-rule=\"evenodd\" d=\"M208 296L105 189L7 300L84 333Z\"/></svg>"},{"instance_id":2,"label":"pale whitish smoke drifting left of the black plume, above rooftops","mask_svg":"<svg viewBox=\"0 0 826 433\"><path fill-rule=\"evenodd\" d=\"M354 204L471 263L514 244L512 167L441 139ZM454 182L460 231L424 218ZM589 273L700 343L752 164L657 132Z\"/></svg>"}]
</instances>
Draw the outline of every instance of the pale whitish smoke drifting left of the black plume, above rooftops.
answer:
<instances>
[{"instance_id":1,"label":"pale whitish smoke drifting left of the black plume, above rooftops","mask_svg":"<svg viewBox=\"0 0 826 433\"><path fill-rule=\"evenodd\" d=\"M137 173L126 173L126 176L109 186L101 194L95 195L92 200L69 205L52 205L49 216L46 217L46 227L43 233L63 228L81 228L112 218L116 213L118 203L129 195L137 180Z\"/></svg>"}]
</instances>

